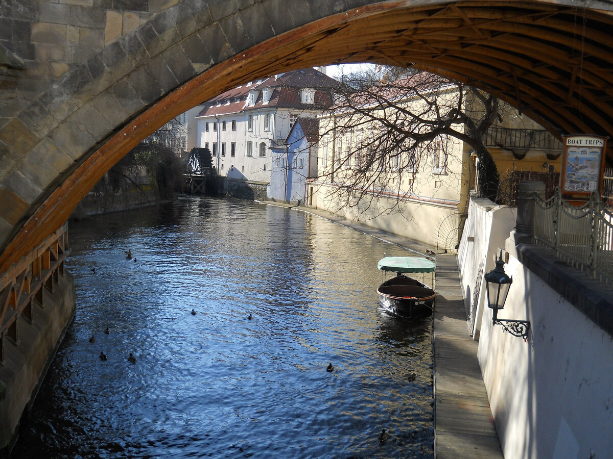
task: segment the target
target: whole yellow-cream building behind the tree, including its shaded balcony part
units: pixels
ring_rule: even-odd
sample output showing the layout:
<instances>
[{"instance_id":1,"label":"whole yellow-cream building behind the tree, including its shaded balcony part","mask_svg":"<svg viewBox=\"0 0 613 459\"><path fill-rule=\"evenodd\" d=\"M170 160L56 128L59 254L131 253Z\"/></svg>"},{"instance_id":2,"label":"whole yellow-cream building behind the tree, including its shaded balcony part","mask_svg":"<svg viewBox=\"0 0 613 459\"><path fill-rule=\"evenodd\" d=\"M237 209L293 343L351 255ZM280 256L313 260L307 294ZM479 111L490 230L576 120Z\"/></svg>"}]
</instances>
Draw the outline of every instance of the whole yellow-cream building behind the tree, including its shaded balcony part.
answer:
<instances>
[{"instance_id":1,"label":"whole yellow-cream building behind the tree, including its shaded balcony part","mask_svg":"<svg viewBox=\"0 0 613 459\"><path fill-rule=\"evenodd\" d=\"M436 91L438 110L453 110L459 87L441 84L439 77L430 82L435 82L432 91ZM410 139L402 140L397 150L386 150L384 159L376 153L383 142L383 130L394 129L376 118L384 115L406 128L406 117L397 112L416 113L422 118L435 116L436 110L428 107L427 101L422 88L419 94L405 92L402 100L394 99L390 106L371 106L365 118L356 118L347 106L321 116L318 179L309 184L307 204L400 234L425 248L455 250L476 184L473 148L459 138L441 134L419 147L413 147ZM356 111L362 110L356 107ZM375 111L378 116L373 116ZM500 118L487 130L484 141L501 175L520 165L541 171L545 162L549 171L549 163L554 163L549 157L561 152L543 149L545 142L555 144L552 137L508 106L498 113ZM460 133L465 129L462 124L452 128ZM546 141L534 141L541 136ZM559 160L554 164L558 170Z\"/></svg>"}]
</instances>

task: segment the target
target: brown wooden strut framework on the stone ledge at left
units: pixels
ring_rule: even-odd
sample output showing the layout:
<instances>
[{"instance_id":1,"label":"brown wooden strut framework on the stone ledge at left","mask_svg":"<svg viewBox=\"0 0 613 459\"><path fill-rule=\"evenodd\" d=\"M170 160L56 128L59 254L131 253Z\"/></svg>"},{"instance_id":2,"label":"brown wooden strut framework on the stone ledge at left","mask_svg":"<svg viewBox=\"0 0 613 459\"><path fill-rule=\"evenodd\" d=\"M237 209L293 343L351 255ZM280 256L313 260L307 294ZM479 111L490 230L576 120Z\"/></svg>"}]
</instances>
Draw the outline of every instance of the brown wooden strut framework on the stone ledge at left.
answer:
<instances>
[{"instance_id":1,"label":"brown wooden strut framework on the stone ledge at left","mask_svg":"<svg viewBox=\"0 0 613 459\"><path fill-rule=\"evenodd\" d=\"M44 289L52 292L58 285L68 253L65 223L0 276L0 364L4 362L5 340L17 343L18 318L32 323L36 307L45 307Z\"/></svg>"}]
</instances>

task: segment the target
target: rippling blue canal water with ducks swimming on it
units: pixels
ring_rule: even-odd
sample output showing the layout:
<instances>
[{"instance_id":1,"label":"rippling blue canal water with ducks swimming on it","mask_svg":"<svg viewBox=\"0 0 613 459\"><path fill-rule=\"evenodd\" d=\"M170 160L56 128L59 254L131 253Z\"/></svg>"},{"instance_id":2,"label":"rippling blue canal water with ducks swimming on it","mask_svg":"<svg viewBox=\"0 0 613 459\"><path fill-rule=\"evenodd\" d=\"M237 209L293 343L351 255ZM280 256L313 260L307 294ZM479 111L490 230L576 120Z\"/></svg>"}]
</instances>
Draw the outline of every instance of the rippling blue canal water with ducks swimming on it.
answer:
<instances>
[{"instance_id":1,"label":"rippling blue canal water with ducks swimming on it","mask_svg":"<svg viewBox=\"0 0 613 459\"><path fill-rule=\"evenodd\" d=\"M12 458L433 457L431 321L376 297L402 248L191 196L69 236L77 315Z\"/></svg>"}]
</instances>

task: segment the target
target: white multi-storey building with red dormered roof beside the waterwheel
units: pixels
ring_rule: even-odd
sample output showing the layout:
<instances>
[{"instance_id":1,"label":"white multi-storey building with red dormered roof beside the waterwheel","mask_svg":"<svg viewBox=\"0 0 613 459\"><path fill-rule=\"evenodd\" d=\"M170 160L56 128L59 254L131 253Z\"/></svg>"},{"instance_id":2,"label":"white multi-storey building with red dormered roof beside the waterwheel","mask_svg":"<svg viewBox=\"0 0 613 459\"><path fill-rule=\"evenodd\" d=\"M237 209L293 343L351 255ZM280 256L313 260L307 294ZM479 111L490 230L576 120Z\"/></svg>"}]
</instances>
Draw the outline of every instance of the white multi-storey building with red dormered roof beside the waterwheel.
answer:
<instances>
[{"instance_id":1,"label":"white multi-storey building with red dormered roof beside the waterwheel","mask_svg":"<svg viewBox=\"0 0 613 459\"><path fill-rule=\"evenodd\" d=\"M270 182L272 140L285 140L299 116L314 118L330 105L337 81L315 69L249 81L204 104L198 146L208 148L220 176Z\"/></svg>"}]
</instances>

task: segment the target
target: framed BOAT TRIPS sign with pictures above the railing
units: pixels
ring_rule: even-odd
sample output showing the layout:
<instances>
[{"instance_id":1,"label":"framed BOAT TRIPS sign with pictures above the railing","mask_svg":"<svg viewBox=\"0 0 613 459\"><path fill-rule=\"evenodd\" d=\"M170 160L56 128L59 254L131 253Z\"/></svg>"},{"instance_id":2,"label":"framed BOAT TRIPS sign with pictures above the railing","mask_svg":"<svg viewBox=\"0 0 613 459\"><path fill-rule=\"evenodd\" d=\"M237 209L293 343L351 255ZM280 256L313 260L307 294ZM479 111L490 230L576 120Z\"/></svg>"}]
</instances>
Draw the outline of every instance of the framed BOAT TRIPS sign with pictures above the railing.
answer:
<instances>
[{"instance_id":1,"label":"framed BOAT TRIPS sign with pictures above the railing","mask_svg":"<svg viewBox=\"0 0 613 459\"><path fill-rule=\"evenodd\" d=\"M600 193L603 182L607 138L570 135L564 138L560 188L565 195L587 198Z\"/></svg>"}]
</instances>

